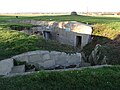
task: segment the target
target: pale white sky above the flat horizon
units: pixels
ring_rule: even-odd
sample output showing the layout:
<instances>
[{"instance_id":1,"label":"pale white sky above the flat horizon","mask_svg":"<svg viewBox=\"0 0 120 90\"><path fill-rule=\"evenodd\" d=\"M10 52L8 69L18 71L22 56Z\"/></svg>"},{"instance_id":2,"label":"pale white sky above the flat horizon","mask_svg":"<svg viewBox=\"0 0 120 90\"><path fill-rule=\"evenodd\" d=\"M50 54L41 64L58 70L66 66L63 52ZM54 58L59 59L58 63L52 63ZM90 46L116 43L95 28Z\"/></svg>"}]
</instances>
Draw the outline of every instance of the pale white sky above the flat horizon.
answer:
<instances>
[{"instance_id":1,"label":"pale white sky above the flat horizon","mask_svg":"<svg viewBox=\"0 0 120 90\"><path fill-rule=\"evenodd\" d=\"M120 12L120 0L0 0L0 13Z\"/></svg>"}]
</instances>

